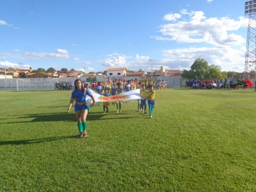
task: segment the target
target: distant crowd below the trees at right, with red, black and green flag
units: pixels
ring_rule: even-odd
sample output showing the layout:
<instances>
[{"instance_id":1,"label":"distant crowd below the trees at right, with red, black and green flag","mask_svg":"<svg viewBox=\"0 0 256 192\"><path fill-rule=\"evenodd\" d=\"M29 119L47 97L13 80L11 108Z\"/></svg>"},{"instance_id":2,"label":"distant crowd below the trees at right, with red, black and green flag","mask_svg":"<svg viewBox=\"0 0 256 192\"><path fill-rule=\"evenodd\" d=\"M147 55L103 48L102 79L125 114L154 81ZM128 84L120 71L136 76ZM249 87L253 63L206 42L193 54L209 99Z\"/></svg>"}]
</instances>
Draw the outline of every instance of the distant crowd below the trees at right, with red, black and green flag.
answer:
<instances>
[{"instance_id":1,"label":"distant crowd below the trees at right, with red, black and green flag","mask_svg":"<svg viewBox=\"0 0 256 192\"><path fill-rule=\"evenodd\" d=\"M247 87L252 87L253 83L249 79L231 79L225 80L189 80L186 81L186 89L239 89L242 87L246 89Z\"/></svg>"}]
</instances>

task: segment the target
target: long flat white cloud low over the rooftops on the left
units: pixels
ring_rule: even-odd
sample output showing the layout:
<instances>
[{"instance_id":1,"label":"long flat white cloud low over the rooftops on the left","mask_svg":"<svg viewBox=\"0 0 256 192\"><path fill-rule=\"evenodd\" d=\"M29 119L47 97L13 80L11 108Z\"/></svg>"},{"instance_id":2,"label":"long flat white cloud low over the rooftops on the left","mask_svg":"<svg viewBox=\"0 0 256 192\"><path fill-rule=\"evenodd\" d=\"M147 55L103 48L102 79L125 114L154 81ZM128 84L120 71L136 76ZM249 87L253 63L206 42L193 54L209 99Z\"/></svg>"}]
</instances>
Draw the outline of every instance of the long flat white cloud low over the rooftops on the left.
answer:
<instances>
[{"instance_id":1,"label":"long flat white cloud low over the rooftops on the left","mask_svg":"<svg viewBox=\"0 0 256 192\"><path fill-rule=\"evenodd\" d=\"M24 52L21 56L23 59L66 59L68 54L47 53L47 52Z\"/></svg>"}]
</instances>

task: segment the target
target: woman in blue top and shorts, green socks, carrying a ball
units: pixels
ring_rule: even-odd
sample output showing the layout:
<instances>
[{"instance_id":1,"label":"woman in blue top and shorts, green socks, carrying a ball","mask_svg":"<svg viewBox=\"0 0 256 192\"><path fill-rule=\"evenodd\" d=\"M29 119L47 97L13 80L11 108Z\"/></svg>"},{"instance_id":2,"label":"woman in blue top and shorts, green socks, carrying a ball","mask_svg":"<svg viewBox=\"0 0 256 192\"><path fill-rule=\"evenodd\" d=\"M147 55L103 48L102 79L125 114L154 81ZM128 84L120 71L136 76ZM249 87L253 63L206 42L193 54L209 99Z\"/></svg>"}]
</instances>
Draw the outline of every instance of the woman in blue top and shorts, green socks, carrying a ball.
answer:
<instances>
[{"instance_id":1,"label":"woman in blue top and shorts, green socks, carrying a ball","mask_svg":"<svg viewBox=\"0 0 256 192\"><path fill-rule=\"evenodd\" d=\"M92 100L93 100L93 104L91 105L91 107L93 107L95 105L95 99L92 96L92 94L90 93L90 91L88 89L84 88L82 81L80 79L76 79L74 84L75 84L75 90L73 90L73 92L72 92L70 104L68 106L67 112L68 113L70 112L73 102L76 99L75 114L76 114L76 119L77 119L78 130L79 130L78 138L81 138L81 137L87 136L86 116L88 113L88 107L85 105L86 95L90 96L90 98L92 98Z\"/></svg>"}]
</instances>

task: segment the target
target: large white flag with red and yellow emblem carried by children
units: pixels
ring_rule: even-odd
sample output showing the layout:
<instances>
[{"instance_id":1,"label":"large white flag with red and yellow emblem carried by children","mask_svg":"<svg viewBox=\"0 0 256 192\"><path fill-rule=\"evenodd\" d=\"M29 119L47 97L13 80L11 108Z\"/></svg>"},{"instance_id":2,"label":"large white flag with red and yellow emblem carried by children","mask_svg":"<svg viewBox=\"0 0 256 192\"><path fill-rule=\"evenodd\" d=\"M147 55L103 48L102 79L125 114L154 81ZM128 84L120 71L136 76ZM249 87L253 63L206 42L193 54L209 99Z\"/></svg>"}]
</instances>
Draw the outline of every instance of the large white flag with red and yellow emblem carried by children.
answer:
<instances>
[{"instance_id":1,"label":"large white flag with red and yellow emblem carried by children","mask_svg":"<svg viewBox=\"0 0 256 192\"><path fill-rule=\"evenodd\" d=\"M140 89L131 90L125 93L121 93L114 96L102 96L99 93L93 92L92 90L91 94L93 95L95 102L118 102L118 101L130 101L130 100L137 100L141 99L140 97ZM86 97L86 100L90 99L90 97Z\"/></svg>"}]
</instances>

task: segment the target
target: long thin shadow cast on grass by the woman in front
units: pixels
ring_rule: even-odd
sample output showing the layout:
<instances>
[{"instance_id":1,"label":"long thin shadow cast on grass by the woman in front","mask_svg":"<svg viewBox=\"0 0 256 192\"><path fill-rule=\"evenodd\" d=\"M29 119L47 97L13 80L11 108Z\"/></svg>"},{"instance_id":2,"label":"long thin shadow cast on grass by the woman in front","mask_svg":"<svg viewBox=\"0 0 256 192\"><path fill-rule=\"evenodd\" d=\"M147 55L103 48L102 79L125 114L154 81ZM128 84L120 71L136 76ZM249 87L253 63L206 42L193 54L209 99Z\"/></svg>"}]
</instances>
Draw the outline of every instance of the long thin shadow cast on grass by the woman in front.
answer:
<instances>
[{"instance_id":1,"label":"long thin shadow cast on grass by the woman in front","mask_svg":"<svg viewBox=\"0 0 256 192\"><path fill-rule=\"evenodd\" d=\"M35 140L15 140L15 141L0 141L1 145L28 145L33 143L42 143L47 141L55 141L55 140L64 140L64 139L71 139L76 138L76 136L63 136L63 137L49 137L49 138L41 138Z\"/></svg>"}]
</instances>

